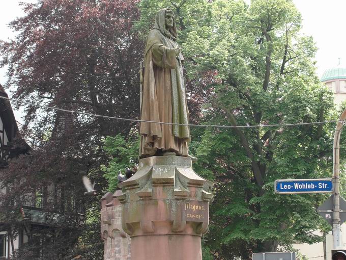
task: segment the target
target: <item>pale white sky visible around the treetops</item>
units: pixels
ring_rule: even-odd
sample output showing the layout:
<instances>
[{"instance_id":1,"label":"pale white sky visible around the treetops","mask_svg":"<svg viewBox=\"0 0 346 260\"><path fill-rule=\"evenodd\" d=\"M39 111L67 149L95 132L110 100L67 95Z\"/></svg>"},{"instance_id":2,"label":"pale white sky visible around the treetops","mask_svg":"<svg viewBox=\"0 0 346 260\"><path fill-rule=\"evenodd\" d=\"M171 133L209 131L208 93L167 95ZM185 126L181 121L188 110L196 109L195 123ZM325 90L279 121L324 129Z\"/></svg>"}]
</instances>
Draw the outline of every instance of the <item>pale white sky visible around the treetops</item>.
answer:
<instances>
[{"instance_id":1,"label":"pale white sky visible around the treetops","mask_svg":"<svg viewBox=\"0 0 346 260\"><path fill-rule=\"evenodd\" d=\"M15 34L7 24L23 15L19 2L35 2L35 0L7 0L0 9L0 40L8 40ZM245 0L250 3L250 0ZM345 0L293 0L303 18L302 34L312 36L318 51L316 53L317 73L332 67L346 67L346 10ZM6 70L0 69L0 83L6 83ZM11 93L9 93L11 94ZM18 113L18 112L17 112ZM16 113L15 113L16 114ZM17 120L20 121L16 115Z\"/></svg>"}]
</instances>

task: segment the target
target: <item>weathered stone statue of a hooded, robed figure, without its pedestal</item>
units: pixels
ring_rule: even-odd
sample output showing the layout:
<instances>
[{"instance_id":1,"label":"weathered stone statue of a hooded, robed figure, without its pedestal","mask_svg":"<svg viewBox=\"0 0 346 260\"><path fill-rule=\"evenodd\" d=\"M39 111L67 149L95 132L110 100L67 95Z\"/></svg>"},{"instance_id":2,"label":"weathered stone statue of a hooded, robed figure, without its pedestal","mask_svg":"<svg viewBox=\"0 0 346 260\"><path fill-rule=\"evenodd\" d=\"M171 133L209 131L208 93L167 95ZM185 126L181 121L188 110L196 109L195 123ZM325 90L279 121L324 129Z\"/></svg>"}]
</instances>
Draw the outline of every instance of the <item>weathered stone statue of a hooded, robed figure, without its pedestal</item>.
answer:
<instances>
[{"instance_id":1,"label":"weathered stone statue of a hooded, robed figure, without its pedestal","mask_svg":"<svg viewBox=\"0 0 346 260\"><path fill-rule=\"evenodd\" d=\"M161 9L156 14L145 48L142 80L141 120L189 123L181 54L177 43L174 13ZM190 157L188 125L141 122L140 157L176 154Z\"/></svg>"}]
</instances>

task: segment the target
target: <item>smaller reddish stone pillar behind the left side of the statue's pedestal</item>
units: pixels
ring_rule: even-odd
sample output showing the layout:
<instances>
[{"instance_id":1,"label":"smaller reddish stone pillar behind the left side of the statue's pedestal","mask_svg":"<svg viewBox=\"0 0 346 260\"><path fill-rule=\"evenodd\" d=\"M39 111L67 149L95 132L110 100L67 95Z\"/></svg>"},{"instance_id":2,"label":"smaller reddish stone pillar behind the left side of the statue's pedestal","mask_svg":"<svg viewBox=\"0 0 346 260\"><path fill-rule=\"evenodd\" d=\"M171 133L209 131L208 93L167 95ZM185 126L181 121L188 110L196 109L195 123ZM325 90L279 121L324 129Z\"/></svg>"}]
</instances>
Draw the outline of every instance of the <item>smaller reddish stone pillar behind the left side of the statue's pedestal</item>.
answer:
<instances>
[{"instance_id":1,"label":"smaller reddish stone pillar behind the left side of the statue's pedestal","mask_svg":"<svg viewBox=\"0 0 346 260\"><path fill-rule=\"evenodd\" d=\"M104 240L104 260L130 260L130 237L122 228L122 206L118 193L107 192L101 199L101 236Z\"/></svg>"}]
</instances>

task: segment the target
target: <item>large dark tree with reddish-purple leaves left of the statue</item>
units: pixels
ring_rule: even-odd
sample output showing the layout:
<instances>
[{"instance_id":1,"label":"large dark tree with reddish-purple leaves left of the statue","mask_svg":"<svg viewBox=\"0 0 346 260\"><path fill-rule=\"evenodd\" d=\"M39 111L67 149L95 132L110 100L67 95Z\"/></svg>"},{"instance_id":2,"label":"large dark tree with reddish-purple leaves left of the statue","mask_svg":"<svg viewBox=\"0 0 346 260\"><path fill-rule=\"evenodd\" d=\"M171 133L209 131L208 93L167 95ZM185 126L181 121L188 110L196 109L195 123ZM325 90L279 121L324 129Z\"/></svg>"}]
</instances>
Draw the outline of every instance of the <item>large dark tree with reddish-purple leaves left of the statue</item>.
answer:
<instances>
[{"instance_id":1,"label":"large dark tree with reddish-purple leaves left of the statue","mask_svg":"<svg viewBox=\"0 0 346 260\"><path fill-rule=\"evenodd\" d=\"M132 30L139 18L137 2L39 0L24 5L25 15L10 23L16 38L0 43L1 65L9 68L6 87L16 89L12 97L78 112L137 118L144 44ZM24 108L22 134L32 151L1 172L2 185L11 187L1 199L7 205L19 203L1 204L0 211L13 225L21 224L16 213L25 201L18 194L41 191L44 198L51 198L43 201L45 211L61 213L69 220L77 213L88 218L86 226L77 225L73 232L68 231L70 221L54 231L35 230L16 257L102 259L99 198L83 196L81 176L95 180L102 195L106 183L100 165L107 159L102 139L119 133L127 136L134 124L13 105ZM53 191L50 186L55 187Z\"/></svg>"}]
</instances>

